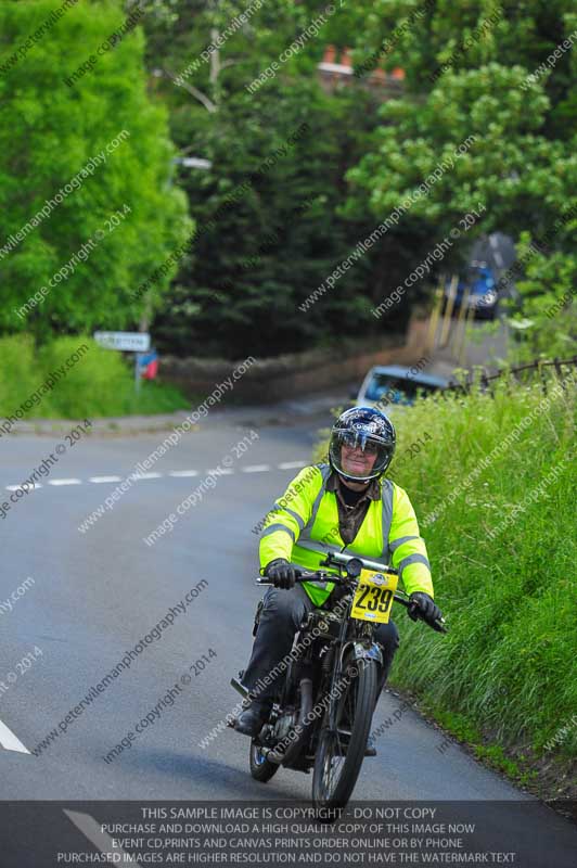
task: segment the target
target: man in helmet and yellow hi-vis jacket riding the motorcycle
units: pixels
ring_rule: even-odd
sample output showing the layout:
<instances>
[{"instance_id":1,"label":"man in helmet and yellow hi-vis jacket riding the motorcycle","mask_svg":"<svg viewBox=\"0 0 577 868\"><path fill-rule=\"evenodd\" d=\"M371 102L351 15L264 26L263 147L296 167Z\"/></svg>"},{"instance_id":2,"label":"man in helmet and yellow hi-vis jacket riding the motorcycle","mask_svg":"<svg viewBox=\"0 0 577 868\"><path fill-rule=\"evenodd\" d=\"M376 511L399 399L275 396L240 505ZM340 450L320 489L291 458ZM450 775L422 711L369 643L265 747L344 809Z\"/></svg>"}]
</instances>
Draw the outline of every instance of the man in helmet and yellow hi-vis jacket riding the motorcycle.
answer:
<instances>
[{"instance_id":1,"label":"man in helmet and yellow hi-vis jacket riding the motorcycle","mask_svg":"<svg viewBox=\"0 0 577 868\"><path fill-rule=\"evenodd\" d=\"M399 570L410 595L409 614L433 622L441 612L433 600L425 542L408 495L384 477L395 452L396 434L384 412L368 407L346 410L331 431L329 463L304 468L274 503L265 522L259 554L261 573L273 583L262 600L253 652L242 680L248 689L235 729L256 736L267 719L285 675L281 661L291 651L303 616L326 605L334 583L295 584L297 564L320 569L328 552L345 551ZM330 605L330 603L329 603ZM379 698L399 644L395 623L380 624L375 639L384 665ZM278 665L281 671L268 677ZM368 754L376 751L369 746Z\"/></svg>"}]
</instances>

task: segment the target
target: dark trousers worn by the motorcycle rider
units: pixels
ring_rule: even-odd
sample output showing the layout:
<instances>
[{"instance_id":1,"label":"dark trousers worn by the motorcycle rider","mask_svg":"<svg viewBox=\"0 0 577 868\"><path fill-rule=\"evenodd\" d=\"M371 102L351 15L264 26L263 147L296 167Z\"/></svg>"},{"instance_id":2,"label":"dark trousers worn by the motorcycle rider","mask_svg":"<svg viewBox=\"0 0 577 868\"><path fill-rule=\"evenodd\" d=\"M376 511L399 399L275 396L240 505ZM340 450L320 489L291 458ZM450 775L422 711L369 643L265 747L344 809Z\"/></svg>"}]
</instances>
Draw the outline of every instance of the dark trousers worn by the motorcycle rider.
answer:
<instances>
[{"instance_id":1,"label":"dark trousers worn by the motorcycle rider","mask_svg":"<svg viewBox=\"0 0 577 868\"><path fill-rule=\"evenodd\" d=\"M300 585L295 585L291 590L269 587L262 602L253 653L242 680L248 690L254 690L257 700L268 702L279 693L287 665L271 684L267 676L283 659L288 664L287 655L293 647L295 633L305 614L313 610L315 605ZM399 647L399 634L394 622L380 624L375 630L375 639L383 649L384 662L376 691L379 698L388 677L395 651ZM266 685L257 685L259 679L266 679Z\"/></svg>"}]
</instances>

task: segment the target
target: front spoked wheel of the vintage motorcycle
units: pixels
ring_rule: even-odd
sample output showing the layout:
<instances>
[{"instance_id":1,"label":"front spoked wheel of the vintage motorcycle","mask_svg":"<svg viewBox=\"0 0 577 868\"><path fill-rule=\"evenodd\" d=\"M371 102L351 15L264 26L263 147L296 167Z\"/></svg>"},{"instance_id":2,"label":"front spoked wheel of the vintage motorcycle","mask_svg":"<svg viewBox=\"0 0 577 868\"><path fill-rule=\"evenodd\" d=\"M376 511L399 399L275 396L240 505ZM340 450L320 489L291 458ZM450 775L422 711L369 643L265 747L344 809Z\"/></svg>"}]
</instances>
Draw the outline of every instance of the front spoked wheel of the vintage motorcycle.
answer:
<instances>
[{"instance_id":1,"label":"front spoked wheel of the vintage motorcycle","mask_svg":"<svg viewBox=\"0 0 577 868\"><path fill-rule=\"evenodd\" d=\"M371 729L376 665L372 660L349 661L345 689L326 709L312 775L317 809L344 807L355 789Z\"/></svg>"}]
</instances>

